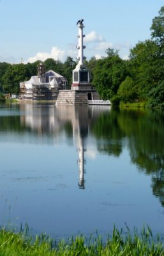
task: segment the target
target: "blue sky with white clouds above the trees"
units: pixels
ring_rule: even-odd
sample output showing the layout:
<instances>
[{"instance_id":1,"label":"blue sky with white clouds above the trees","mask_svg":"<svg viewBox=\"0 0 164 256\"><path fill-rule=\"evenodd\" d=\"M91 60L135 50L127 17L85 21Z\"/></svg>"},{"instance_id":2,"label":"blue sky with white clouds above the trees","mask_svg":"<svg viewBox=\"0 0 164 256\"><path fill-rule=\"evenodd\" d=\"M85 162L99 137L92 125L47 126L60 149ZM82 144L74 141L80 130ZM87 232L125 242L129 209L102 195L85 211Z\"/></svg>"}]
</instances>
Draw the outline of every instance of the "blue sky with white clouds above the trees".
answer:
<instances>
[{"instance_id":1,"label":"blue sky with white clouds above the trees","mask_svg":"<svg viewBox=\"0 0 164 256\"><path fill-rule=\"evenodd\" d=\"M127 59L151 38L163 0L0 0L0 62L23 63L78 55L77 20L84 19L84 56L106 56L108 47Z\"/></svg>"}]
</instances>

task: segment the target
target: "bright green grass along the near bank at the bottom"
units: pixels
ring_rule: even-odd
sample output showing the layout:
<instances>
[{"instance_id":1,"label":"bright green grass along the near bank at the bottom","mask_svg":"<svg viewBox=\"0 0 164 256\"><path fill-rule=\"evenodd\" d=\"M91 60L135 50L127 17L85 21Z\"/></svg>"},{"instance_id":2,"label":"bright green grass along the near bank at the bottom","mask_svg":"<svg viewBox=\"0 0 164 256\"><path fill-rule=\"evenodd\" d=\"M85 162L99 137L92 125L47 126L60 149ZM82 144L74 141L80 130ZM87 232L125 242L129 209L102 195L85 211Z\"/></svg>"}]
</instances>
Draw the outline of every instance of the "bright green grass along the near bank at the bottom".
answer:
<instances>
[{"instance_id":1,"label":"bright green grass along the near bank at the bottom","mask_svg":"<svg viewBox=\"0 0 164 256\"><path fill-rule=\"evenodd\" d=\"M163 244L159 239L153 241L153 236L149 227L143 229L138 235L137 230L133 234L124 235L114 228L112 236L107 237L103 243L101 236L77 236L68 239L52 241L47 236L36 236L34 239L20 232L14 234L0 230L0 255L164 255Z\"/></svg>"}]
</instances>

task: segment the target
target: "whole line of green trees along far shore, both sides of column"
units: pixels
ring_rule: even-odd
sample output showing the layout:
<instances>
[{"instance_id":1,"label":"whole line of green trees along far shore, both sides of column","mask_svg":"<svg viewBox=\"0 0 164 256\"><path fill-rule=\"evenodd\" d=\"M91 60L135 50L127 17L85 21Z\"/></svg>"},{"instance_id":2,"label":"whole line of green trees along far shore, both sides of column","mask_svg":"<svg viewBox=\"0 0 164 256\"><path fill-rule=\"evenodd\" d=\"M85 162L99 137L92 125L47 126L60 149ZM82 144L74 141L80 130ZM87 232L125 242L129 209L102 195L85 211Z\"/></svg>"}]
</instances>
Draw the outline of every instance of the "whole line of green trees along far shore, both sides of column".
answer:
<instances>
[{"instance_id":1,"label":"whole line of green trees along far shore, both sides of column","mask_svg":"<svg viewBox=\"0 0 164 256\"><path fill-rule=\"evenodd\" d=\"M86 61L91 70L91 83L101 99L120 102L145 102L150 107L164 108L164 6L154 17L151 38L138 42L130 50L129 60L122 60L119 51L108 48L107 57ZM19 83L37 74L40 61L27 64L0 63L0 92L19 93ZM45 68L66 77L72 83L76 62L68 57L62 63L53 59L43 62Z\"/></svg>"}]
</instances>

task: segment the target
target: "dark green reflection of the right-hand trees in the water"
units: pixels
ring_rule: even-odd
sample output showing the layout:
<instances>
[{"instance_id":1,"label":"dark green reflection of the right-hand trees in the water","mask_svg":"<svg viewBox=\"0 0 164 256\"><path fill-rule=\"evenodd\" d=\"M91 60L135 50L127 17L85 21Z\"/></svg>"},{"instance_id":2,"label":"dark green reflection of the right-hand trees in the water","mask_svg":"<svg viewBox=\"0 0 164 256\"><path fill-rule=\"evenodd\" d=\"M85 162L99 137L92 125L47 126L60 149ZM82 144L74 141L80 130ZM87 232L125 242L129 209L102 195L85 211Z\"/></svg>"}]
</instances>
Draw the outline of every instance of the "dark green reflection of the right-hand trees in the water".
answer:
<instances>
[{"instance_id":1,"label":"dark green reflection of the right-hand trees in the water","mask_svg":"<svg viewBox=\"0 0 164 256\"><path fill-rule=\"evenodd\" d=\"M164 113L145 109L111 111L101 115L93 133L98 150L119 156L124 139L131 162L152 177L153 195L164 206Z\"/></svg>"}]
</instances>

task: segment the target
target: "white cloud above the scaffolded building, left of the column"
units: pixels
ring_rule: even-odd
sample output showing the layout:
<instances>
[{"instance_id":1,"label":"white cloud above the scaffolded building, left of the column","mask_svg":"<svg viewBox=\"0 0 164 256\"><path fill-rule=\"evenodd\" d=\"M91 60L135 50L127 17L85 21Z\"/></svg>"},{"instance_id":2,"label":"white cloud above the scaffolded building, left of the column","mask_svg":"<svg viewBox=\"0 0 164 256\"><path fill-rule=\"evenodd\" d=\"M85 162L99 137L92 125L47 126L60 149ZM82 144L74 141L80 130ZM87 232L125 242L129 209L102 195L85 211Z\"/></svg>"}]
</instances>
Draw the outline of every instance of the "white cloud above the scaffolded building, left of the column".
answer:
<instances>
[{"instance_id":1,"label":"white cloud above the scaffolded building, left of the column","mask_svg":"<svg viewBox=\"0 0 164 256\"><path fill-rule=\"evenodd\" d=\"M57 47L52 47L51 52L38 52L34 57L29 58L27 61L33 63L34 61L41 60L45 61L48 58L52 58L54 60L63 60L65 57L65 51Z\"/></svg>"}]
</instances>

